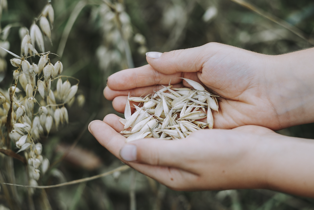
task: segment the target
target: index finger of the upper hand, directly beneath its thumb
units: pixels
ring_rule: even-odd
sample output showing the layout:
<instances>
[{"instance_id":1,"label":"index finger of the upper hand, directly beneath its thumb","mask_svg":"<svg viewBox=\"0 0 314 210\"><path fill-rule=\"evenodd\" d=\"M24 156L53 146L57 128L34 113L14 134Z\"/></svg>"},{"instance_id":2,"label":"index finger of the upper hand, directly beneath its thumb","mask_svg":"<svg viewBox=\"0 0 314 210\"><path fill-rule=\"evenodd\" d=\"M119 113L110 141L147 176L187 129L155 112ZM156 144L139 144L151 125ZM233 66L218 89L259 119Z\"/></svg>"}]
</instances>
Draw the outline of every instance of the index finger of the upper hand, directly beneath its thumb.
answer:
<instances>
[{"instance_id":1,"label":"index finger of the upper hand, directly beneath its thumb","mask_svg":"<svg viewBox=\"0 0 314 210\"><path fill-rule=\"evenodd\" d=\"M173 75L163 74L145 65L138 68L125 69L112 74L107 80L107 86L112 90L129 90L134 88L152 86L156 84L180 83L181 73Z\"/></svg>"}]
</instances>

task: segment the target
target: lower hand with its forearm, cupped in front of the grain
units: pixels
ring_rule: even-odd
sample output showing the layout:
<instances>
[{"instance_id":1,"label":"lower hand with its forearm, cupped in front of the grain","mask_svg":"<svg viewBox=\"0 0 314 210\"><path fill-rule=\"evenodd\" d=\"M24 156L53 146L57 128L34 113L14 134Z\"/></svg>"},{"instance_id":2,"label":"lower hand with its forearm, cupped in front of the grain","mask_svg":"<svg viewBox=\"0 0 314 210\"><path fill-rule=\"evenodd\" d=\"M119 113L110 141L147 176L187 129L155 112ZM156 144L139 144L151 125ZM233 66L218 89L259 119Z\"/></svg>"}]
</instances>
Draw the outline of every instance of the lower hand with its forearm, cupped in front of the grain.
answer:
<instances>
[{"instance_id":1,"label":"lower hand with its forearm, cupped in front of the grain","mask_svg":"<svg viewBox=\"0 0 314 210\"><path fill-rule=\"evenodd\" d=\"M271 189L314 197L314 142L259 126L205 129L184 139L126 143L120 117L93 121L89 131L112 154L174 190Z\"/></svg>"}]
</instances>

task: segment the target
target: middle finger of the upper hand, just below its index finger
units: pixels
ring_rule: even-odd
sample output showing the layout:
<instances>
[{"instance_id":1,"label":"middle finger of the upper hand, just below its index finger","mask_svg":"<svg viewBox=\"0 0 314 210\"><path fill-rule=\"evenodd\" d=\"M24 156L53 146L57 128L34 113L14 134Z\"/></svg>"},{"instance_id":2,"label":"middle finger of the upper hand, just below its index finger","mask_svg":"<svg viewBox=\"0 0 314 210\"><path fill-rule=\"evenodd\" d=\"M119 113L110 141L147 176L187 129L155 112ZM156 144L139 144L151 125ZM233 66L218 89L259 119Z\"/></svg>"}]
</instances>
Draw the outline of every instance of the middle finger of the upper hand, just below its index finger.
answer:
<instances>
[{"instance_id":1,"label":"middle finger of the upper hand, just below its index finger","mask_svg":"<svg viewBox=\"0 0 314 210\"><path fill-rule=\"evenodd\" d=\"M173 88L181 88L183 85L181 83L173 85ZM104 96L107 100L113 100L115 97L119 95L127 96L130 93L130 96L139 96L144 97L148 94L153 94L154 90L158 91L164 88L161 85L147 86L142 88L135 88L130 90L112 90L108 86L104 89Z\"/></svg>"}]
</instances>

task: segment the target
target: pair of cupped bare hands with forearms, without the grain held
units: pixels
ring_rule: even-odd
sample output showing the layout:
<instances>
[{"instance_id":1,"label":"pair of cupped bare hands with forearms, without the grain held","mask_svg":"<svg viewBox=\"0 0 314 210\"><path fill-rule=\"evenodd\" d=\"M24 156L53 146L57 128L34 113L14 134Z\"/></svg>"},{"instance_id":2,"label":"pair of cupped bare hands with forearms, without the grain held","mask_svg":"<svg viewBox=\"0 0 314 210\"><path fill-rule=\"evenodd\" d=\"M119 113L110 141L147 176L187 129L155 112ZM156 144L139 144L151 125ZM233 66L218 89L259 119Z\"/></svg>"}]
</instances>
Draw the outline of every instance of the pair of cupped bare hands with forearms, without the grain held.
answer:
<instances>
[{"instance_id":1,"label":"pair of cupped bare hands with forearms, without the grain held","mask_svg":"<svg viewBox=\"0 0 314 210\"><path fill-rule=\"evenodd\" d=\"M129 92L141 96L170 80L181 86L179 78L189 78L220 96L219 113L213 113L214 128L220 129L194 132L180 141L125 143L120 117L111 114L91 122L89 131L123 162L172 189L266 188L313 196L313 187L302 187L305 180L313 186L311 175L295 173L311 166L306 172L314 172L313 164L302 164L313 143L272 131L314 120L311 54L308 49L268 56L218 43L150 52L149 65L108 78L104 95L114 108L123 113Z\"/></svg>"}]
</instances>

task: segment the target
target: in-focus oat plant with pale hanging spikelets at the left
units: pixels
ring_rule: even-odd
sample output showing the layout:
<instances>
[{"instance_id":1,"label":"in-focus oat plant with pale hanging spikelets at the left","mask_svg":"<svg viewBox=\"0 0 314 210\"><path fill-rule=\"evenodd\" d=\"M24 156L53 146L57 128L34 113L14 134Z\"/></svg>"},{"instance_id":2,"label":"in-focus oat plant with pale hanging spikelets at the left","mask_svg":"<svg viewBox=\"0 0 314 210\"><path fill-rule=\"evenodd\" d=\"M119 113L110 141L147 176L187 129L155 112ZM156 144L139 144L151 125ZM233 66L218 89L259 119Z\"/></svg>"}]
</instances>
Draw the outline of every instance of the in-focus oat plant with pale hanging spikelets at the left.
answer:
<instances>
[{"instance_id":1,"label":"in-focus oat plant with pale hanging spikelets at the left","mask_svg":"<svg viewBox=\"0 0 314 210\"><path fill-rule=\"evenodd\" d=\"M54 10L48 2L30 29L20 29L23 39L19 55L1 47L14 56L10 62L16 67L12 86L0 89L0 152L7 155L2 159L7 176L3 176L1 169L1 183L15 184L12 158L16 158L25 164L24 184L37 186L49 168L49 160L42 155L41 139L69 122L65 105L73 104L79 81L62 76L63 65L58 56L45 51L45 39L51 43L53 22ZM52 63L51 58L58 60ZM19 209L16 188L5 185L2 188L10 208ZM28 193L33 209L34 189L28 188Z\"/></svg>"}]
</instances>

